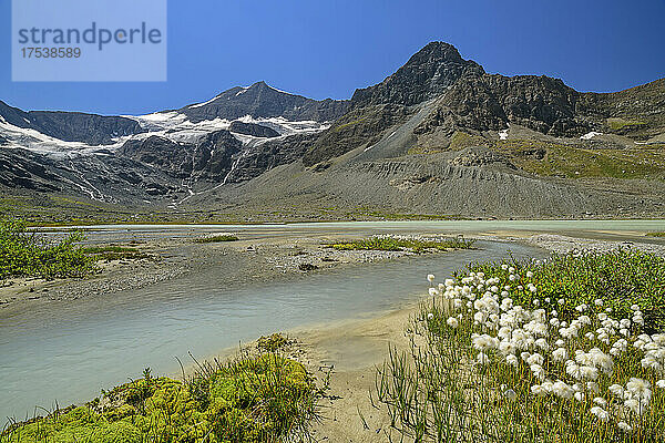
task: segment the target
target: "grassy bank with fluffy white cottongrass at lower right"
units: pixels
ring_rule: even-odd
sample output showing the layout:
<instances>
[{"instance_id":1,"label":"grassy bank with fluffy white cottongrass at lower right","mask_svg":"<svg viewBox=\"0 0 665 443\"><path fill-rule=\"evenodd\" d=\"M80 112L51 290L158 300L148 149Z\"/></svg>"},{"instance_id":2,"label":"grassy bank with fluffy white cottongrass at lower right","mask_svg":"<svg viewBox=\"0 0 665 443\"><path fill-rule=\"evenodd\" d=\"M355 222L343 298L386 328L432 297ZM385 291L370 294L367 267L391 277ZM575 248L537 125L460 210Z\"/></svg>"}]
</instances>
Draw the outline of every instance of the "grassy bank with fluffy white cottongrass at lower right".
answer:
<instances>
[{"instance_id":1,"label":"grassy bank with fluffy white cottongrass at lower right","mask_svg":"<svg viewBox=\"0 0 665 443\"><path fill-rule=\"evenodd\" d=\"M663 442L664 281L635 250L472 265L431 286L378 401L409 441Z\"/></svg>"}]
</instances>

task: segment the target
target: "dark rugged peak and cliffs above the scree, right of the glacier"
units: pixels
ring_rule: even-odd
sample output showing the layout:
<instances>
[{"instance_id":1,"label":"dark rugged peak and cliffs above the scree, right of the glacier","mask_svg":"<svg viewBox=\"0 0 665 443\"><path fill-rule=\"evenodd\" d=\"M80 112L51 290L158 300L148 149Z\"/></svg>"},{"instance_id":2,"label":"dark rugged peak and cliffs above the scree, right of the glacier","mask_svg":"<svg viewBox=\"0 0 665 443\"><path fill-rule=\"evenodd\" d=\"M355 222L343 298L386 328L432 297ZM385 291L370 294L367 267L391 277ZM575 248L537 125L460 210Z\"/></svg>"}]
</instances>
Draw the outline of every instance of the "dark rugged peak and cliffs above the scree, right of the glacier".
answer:
<instances>
[{"instance_id":1,"label":"dark rugged peak and cliffs above the scree, right of the glacier","mask_svg":"<svg viewBox=\"0 0 665 443\"><path fill-rule=\"evenodd\" d=\"M304 163L372 145L429 102L436 104L413 134L437 133L442 148L458 131L495 133L511 124L552 137L598 132L646 138L665 132L664 80L611 94L581 93L560 79L488 74L450 44L432 42L383 82L357 90L347 114L317 140Z\"/></svg>"}]
</instances>

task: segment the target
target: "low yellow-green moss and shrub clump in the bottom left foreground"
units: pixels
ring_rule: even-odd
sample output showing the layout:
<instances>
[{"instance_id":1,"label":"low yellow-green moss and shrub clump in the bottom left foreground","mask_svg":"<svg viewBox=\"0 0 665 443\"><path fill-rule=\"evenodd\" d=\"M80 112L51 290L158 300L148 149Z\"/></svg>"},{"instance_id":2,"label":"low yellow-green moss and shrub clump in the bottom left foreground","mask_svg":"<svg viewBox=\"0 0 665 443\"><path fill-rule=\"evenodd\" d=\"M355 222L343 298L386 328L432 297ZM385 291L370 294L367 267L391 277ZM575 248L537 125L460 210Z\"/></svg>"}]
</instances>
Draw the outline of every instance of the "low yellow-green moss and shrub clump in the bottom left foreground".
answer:
<instances>
[{"instance_id":1,"label":"low yellow-green moss and shrub clump in the bottom left foreground","mask_svg":"<svg viewBox=\"0 0 665 443\"><path fill-rule=\"evenodd\" d=\"M153 378L103 392L84 406L16 423L0 443L264 443L304 441L318 416L305 368L275 352L198 365L184 382Z\"/></svg>"}]
</instances>

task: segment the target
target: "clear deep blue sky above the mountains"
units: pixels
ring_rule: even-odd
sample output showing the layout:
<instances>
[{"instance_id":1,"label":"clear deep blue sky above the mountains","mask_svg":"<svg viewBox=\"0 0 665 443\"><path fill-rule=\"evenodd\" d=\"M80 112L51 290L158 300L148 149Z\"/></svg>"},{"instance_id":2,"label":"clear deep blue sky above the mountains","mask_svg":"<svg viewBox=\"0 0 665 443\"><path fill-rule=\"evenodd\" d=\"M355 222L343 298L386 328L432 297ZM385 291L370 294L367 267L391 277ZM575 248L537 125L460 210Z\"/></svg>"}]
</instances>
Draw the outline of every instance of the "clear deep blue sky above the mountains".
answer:
<instances>
[{"instance_id":1,"label":"clear deep blue sky above the mountains","mask_svg":"<svg viewBox=\"0 0 665 443\"><path fill-rule=\"evenodd\" d=\"M432 40L488 72L546 74L581 91L665 76L663 0L170 0L161 83L12 82L10 12L0 0L0 100L24 110L147 113L259 80L347 99Z\"/></svg>"}]
</instances>

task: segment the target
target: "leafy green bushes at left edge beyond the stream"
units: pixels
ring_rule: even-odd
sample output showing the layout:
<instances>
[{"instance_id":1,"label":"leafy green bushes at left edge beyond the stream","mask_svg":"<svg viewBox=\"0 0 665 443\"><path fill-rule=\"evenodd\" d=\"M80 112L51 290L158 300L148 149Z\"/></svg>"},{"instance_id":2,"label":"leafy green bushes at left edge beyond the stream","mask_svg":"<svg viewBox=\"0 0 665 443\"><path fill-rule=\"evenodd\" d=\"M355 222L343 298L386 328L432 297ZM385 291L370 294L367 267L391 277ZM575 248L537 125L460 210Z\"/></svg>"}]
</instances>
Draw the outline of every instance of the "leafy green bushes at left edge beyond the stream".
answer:
<instances>
[{"instance_id":1,"label":"leafy green bushes at left edge beyond the stream","mask_svg":"<svg viewBox=\"0 0 665 443\"><path fill-rule=\"evenodd\" d=\"M94 270L94 260L79 246L79 231L60 241L29 231L21 220L0 220L0 279L83 277Z\"/></svg>"}]
</instances>

